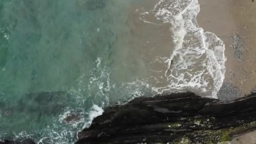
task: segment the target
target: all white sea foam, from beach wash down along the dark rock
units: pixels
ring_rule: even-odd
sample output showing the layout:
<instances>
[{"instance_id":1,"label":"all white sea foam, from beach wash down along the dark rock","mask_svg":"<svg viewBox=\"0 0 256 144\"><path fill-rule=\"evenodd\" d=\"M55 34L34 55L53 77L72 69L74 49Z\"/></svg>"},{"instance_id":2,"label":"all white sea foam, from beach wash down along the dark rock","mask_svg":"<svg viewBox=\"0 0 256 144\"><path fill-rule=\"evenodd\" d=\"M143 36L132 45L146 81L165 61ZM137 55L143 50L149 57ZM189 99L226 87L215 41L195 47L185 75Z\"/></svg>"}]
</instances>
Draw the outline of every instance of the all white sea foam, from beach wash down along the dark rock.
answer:
<instances>
[{"instance_id":1,"label":"all white sea foam, from beach wash down along the dark rock","mask_svg":"<svg viewBox=\"0 0 256 144\"><path fill-rule=\"evenodd\" d=\"M163 77L168 82L167 85L159 87L148 85L147 80L138 80L123 83L121 88L117 88L118 86L110 81L109 68L102 66L104 60L98 58L95 61L96 68L91 70L88 75L83 75L79 78L78 88L72 94L80 97L78 100L82 101L83 99L89 99L83 97L83 92L88 92L90 98L97 97L99 99L100 102L95 101L99 106L93 104L91 109L88 108L88 111L83 112L85 114L84 117L81 118L81 121L75 123L75 125L71 125L68 128L60 128L60 126L63 126L61 122L64 118L72 114L67 109L54 122L56 124L53 127L42 130L43 138L40 137L37 144L73 143L74 141L70 139L75 136L78 131L77 129L89 127L93 118L103 113L102 107L108 105L109 96L114 96L113 92L109 92L113 89L117 89L118 94L126 92L129 96L142 96L144 95L141 92L142 88L134 85L146 85L147 88L152 86L152 91L158 94L192 91L201 96L216 98L216 94L224 80L225 47L223 41L216 35L211 32L204 32L197 25L196 16L199 11L200 5L197 0L160 0L151 11L141 13L140 19L145 23L158 24L145 18L146 15L153 13L158 20L163 21L163 23L170 23L172 26L170 31L173 34L174 50L170 51L169 57L153 60L166 64L167 68L164 69L165 74ZM95 75L96 73L99 75ZM82 106L84 106L84 103L79 107ZM74 126L81 123L83 123L81 127L74 128ZM74 129L72 130L72 128ZM20 137L33 136L27 133L20 133L16 138Z\"/></svg>"}]
</instances>

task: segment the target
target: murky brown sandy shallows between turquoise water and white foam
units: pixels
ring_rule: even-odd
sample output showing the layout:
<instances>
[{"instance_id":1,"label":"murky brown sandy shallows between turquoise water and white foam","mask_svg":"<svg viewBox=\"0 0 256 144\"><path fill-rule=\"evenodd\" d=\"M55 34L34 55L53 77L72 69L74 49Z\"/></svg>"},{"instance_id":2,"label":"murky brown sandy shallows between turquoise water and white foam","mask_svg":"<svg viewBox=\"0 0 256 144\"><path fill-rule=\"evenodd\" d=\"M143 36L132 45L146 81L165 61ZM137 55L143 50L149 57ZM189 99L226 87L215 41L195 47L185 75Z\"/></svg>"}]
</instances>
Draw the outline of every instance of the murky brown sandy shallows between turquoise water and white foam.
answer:
<instances>
[{"instance_id":1,"label":"murky brown sandy shallows between turquoise water and white foam","mask_svg":"<svg viewBox=\"0 0 256 144\"><path fill-rule=\"evenodd\" d=\"M123 1L120 1L123 5ZM123 16L127 23L125 26L128 30L123 30L121 27L118 30L118 41L115 47L118 48L114 59L117 61L118 69L113 72L113 75L118 79L122 77L132 77L141 75L142 79L152 87L166 87L169 81L163 77L168 65L162 58L169 58L173 52L174 44L172 41L172 32L170 23L163 23L155 17L155 13L150 13L154 6L158 3L157 0L147 0L140 3L129 5L125 11L128 16ZM149 14L141 14L149 12ZM122 59L123 63L120 62ZM133 62L129 62L133 61ZM137 64L137 65L136 65ZM122 76L123 67L132 67L131 76ZM121 68L120 68L121 67ZM142 69L136 72L136 69ZM132 82L132 81L131 81ZM155 94L155 93L154 93Z\"/></svg>"}]
</instances>

